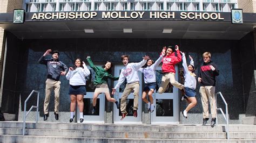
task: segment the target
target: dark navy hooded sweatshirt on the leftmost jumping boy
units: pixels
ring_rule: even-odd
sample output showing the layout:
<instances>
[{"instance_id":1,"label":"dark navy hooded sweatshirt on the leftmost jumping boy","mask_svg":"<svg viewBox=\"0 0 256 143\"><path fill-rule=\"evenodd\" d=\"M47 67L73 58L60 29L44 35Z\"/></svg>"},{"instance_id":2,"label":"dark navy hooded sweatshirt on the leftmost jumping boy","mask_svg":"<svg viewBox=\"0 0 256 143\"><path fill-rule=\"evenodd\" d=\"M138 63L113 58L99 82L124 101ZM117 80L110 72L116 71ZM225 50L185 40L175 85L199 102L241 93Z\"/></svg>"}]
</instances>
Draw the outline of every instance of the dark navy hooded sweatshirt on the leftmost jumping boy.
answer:
<instances>
[{"instance_id":1,"label":"dark navy hooded sweatshirt on the leftmost jumping boy","mask_svg":"<svg viewBox=\"0 0 256 143\"><path fill-rule=\"evenodd\" d=\"M52 59L44 59L45 56L41 56L39 63L46 65L47 67L47 78L55 81L59 81L60 71L65 70L68 72L69 68L61 61Z\"/></svg>"}]
</instances>

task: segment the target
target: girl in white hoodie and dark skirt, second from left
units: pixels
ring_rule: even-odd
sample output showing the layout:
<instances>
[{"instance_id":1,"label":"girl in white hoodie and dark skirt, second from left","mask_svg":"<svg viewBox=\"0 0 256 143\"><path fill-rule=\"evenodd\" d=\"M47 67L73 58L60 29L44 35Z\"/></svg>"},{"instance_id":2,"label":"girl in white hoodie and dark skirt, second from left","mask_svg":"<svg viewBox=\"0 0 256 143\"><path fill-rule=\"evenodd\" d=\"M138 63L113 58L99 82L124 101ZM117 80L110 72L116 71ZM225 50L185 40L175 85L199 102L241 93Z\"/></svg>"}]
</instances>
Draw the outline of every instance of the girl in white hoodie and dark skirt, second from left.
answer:
<instances>
[{"instance_id":1,"label":"girl in white hoodie and dark skirt, second from left","mask_svg":"<svg viewBox=\"0 0 256 143\"><path fill-rule=\"evenodd\" d=\"M70 95L70 120L71 123L75 117L74 112L76 102L80 112L80 123L84 121L84 95L86 95L86 80L85 77L90 75L90 70L86 67L84 61L77 59L75 61L75 68L70 67L66 79L69 80L69 95Z\"/></svg>"}]
</instances>

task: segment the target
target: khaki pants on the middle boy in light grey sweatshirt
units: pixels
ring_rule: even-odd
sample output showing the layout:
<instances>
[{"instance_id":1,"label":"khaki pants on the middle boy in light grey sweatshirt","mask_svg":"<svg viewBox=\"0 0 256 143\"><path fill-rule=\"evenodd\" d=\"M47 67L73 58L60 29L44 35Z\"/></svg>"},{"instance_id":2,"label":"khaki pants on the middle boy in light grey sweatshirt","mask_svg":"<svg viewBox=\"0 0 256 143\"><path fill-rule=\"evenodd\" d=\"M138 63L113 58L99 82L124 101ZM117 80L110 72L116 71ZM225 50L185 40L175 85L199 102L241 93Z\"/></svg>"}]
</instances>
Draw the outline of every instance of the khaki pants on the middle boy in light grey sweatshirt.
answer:
<instances>
[{"instance_id":1,"label":"khaki pants on the middle boy in light grey sweatshirt","mask_svg":"<svg viewBox=\"0 0 256 143\"><path fill-rule=\"evenodd\" d=\"M138 110L139 106L139 82L134 82L131 84L126 84L126 87L124 89L122 98L121 98L121 106L120 110L122 113L126 113L126 99L128 98L128 95L131 94L132 90L134 90L134 101L133 101L133 110Z\"/></svg>"}]
</instances>

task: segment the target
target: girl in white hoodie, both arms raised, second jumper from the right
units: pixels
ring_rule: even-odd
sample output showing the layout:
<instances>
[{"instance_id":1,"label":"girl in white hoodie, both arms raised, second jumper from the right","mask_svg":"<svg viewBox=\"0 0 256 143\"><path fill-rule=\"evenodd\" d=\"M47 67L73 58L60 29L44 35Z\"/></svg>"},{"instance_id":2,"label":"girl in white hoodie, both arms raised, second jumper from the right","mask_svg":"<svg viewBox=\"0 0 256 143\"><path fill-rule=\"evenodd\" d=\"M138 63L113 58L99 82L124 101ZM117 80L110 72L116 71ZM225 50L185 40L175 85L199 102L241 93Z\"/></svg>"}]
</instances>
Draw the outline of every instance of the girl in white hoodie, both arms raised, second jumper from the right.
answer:
<instances>
[{"instance_id":1,"label":"girl in white hoodie, both arms raised, second jumper from the right","mask_svg":"<svg viewBox=\"0 0 256 143\"><path fill-rule=\"evenodd\" d=\"M190 55L189 55L190 56ZM187 118L187 112L197 105L197 98L196 98L196 87L197 87L197 80L196 74L194 74L194 61L193 58L190 56L190 65L187 66L186 56L185 53L182 53L182 66L184 68L184 89L185 89L185 97L188 103L187 108L182 112L184 118ZM183 99L181 98L181 101Z\"/></svg>"}]
</instances>

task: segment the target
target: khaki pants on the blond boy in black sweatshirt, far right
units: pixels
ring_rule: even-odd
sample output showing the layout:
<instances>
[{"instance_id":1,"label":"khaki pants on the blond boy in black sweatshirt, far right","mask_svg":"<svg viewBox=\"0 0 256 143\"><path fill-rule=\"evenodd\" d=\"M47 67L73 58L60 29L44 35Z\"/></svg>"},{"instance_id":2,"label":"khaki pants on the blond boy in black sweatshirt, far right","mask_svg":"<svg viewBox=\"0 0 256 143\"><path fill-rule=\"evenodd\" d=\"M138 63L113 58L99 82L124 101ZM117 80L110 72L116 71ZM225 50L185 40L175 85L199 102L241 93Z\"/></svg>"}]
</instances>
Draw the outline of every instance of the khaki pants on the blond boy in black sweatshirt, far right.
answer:
<instances>
[{"instance_id":1,"label":"khaki pants on the blond boy in black sweatshirt, far right","mask_svg":"<svg viewBox=\"0 0 256 143\"><path fill-rule=\"evenodd\" d=\"M208 103L210 101L212 118L216 118L215 87L205 86L199 89L203 105L203 118L209 118Z\"/></svg>"}]
</instances>

